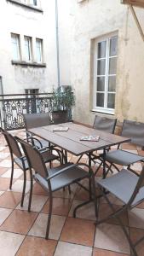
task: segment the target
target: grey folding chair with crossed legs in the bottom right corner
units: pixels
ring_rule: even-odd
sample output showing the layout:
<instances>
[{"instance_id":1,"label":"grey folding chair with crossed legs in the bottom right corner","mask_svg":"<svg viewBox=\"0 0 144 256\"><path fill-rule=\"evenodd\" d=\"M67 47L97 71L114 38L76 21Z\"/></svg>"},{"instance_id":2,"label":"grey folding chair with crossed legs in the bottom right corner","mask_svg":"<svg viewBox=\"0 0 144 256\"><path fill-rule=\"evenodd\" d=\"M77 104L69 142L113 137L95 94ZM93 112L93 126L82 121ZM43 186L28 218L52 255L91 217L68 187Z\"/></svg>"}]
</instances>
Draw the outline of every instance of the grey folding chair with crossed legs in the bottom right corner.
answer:
<instances>
[{"instance_id":1,"label":"grey folding chair with crossed legs in the bottom right corner","mask_svg":"<svg viewBox=\"0 0 144 256\"><path fill-rule=\"evenodd\" d=\"M144 236L133 243L130 238L129 231L126 227L124 227L119 215L126 211L130 211L132 208L138 206L142 201L144 201L144 166L142 168L140 177L127 169L123 169L121 172L118 172L111 177L98 180L96 184L101 190L101 195L106 199L108 206L112 210L112 214L106 218L102 218L100 220L97 219L95 223L96 226L98 224L107 222L109 218L118 219L118 224L120 224L122 230L124 231L124 235L127 237L127 240L130 243L130 248L133 253L132 255L138 256L135 247L144 239ZM109 200L106 192L111 193L123 202L123 205L120 206L118 210L113 207L112 202Z\"/></svg>"}]
</instances>

